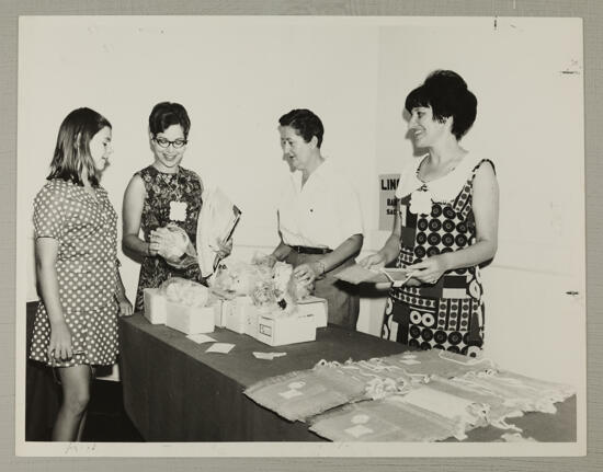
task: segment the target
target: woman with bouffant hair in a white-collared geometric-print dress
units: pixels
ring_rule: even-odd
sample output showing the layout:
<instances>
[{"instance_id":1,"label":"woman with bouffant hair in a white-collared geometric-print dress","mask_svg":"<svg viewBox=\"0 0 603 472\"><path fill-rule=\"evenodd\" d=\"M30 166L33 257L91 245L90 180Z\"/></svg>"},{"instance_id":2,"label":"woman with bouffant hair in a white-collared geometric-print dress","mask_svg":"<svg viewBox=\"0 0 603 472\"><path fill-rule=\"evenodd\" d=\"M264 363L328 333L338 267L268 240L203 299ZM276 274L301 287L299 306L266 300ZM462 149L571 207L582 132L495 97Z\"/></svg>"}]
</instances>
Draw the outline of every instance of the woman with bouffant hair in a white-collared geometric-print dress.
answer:
<instances>
[{"instance_id":1,"label":"woman with bouffant hair in a white-collared geometric-print dress","mask_svg":"<svg viewBox=\"0 0 603 472\"><path fill-rule=\"evenodd\" d=\"M499 214L493 163L459 143L477 100L457 73L439 70L405 107L414 146L428 153L402 170L394 230L361 265L378 268L396 260L411 276L389 292L383 337L475 357L485 322L479 265L497 252Z\"/></svg>"}]
</instances>

